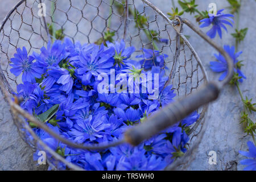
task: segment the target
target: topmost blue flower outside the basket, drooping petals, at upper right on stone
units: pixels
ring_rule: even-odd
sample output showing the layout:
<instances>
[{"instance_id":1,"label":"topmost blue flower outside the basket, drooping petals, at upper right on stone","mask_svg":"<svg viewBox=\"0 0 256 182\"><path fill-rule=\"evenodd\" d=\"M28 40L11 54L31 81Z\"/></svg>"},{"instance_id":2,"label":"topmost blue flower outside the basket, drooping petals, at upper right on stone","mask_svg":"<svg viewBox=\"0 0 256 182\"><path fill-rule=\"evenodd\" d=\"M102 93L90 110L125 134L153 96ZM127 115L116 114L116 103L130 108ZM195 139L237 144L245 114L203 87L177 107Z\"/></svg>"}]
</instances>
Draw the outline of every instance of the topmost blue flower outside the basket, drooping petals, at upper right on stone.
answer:
<instances>
[{"instance_id":1,"label":"topmost blue flower outside the basket, drooping petals, at upper right on stone","mask_svg":"<svg viewBox=\"0 0 256 182\"><path fill-rule=\"evenodd\" d=\"M204 22L203 24L201 24L200 26L201 28L208 27L210 26L210 24L213 25L212 28L207 32L207 35L211 39L215 38L216 32L218 32L218 35L220 36L220 38L222 38L221 28L224 28L224 30L228 32L224 24L228 24L229 26L233 27L232 23L234 23L234 20L229 17L234 17L234 15L225 14L225 13L222 13L222 11L224 11L224 9L218 10L216 15L209 14L209 18L200 20L200 22ZM232 23L230 23L228 20L230 20L230 22Z\"/></svg>"}]
</instances>

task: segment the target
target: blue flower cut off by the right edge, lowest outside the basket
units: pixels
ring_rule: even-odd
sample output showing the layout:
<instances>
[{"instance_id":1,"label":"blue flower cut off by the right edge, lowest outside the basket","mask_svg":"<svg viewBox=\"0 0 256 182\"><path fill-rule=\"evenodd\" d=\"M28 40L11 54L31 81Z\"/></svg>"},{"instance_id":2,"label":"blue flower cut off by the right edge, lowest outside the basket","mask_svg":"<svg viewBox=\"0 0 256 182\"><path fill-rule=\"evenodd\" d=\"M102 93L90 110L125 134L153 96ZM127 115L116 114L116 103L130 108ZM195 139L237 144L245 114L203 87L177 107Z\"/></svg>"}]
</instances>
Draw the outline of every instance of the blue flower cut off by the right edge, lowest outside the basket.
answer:
<instances>
[{"instance_id":1,"label":"blue flower cut off by the right edge, lowest outside the basket","mask_svg":"<svg viewBox=\"0 0 256 182\"><path fill-rule=\"evenodd\" d=\"M240 163L242 165L247 165L243 170L256 171L256 146L251 141L247 142L247 146L249 148L249 152L239 151L239 153L247 158L253 159L243 159Z\"/></svg>"}]
</instances>

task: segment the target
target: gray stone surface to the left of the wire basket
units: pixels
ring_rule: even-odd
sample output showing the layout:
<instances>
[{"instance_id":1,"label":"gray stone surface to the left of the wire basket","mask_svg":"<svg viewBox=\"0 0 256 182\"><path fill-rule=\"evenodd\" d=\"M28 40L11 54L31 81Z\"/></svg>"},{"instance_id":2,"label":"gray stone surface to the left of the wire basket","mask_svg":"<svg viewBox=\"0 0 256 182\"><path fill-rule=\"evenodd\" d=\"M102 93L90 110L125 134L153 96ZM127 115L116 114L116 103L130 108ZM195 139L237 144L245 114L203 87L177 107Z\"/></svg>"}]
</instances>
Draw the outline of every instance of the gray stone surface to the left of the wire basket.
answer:
<instances>
[{"instance_id":1,"label":"gray stone surface to the left of the wire basket","mask_svg":"<svg viewBox=\"0 0 256 182\"><path fill-rule=\"evenodd\" d=\"M0 2L1 21L16 2L18 1ZM32 159L31 148L19 137L9 109L0 93L0 170L39 169Z\"/></svg>"}]
</instances>

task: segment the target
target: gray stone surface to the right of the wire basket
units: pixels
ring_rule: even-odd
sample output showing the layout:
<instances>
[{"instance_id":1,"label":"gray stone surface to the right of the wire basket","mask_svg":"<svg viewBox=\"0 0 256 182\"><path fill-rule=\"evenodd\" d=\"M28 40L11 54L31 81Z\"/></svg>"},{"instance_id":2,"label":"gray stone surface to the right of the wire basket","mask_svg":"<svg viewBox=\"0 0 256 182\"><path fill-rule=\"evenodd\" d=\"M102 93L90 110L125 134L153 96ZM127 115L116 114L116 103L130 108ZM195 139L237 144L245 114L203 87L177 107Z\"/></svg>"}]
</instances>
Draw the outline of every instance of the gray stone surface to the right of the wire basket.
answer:
<instances>
[{"instance_id":1,"label":"gray stone surface to the right of the wire basket","mask_svg":"<svg viewBox=\"0 0 256 182\"><path fill-rule=\"evenodd\" d=\"M200 2L200 3L199 3ZM199 9L208 8L209 3L215 2L217 9L223 9L228 6L226 1L197 1ZM242 1L240 28L249 27L245 40L240 44L239 51L243 51L240 60L244 60L245 66L242 71L245 72L247 80L241 84L242 93L255 101L255 59L254 41L256 38L255 30L255 1ZM188 14L184 15L188 19L193 19ZM236 17L235 17L236 18ZM194 21L195 22L195 21ZM207 28L203 29L207 31ZM229 32L234 32L234 28L229 27ZM219 74L213 73L209 69L209 61L214 60L213 53L216 51L209 47L207 43L201 40L197 35L189 30L184 34L192 35L189 39L193 47L199 53L205 68L207 69L210 80L217 80ZM235 42L231 35L224 33L224 38L214 39L220 45L234 46ZM236 87L225 86L217 101L213 102L209 107L208 129L204 138L200 143L196 158L188 167L189 170L242 170L239 161L242 156L238 154L238 150L247 150L247 141L252 140L246 137L240 125L240 113L242 111L241 99ZM255 114L251 115L251 119L255 121ZM217 152L217 165L208 163L209 151Z\"/></svg>"}]
</instances>

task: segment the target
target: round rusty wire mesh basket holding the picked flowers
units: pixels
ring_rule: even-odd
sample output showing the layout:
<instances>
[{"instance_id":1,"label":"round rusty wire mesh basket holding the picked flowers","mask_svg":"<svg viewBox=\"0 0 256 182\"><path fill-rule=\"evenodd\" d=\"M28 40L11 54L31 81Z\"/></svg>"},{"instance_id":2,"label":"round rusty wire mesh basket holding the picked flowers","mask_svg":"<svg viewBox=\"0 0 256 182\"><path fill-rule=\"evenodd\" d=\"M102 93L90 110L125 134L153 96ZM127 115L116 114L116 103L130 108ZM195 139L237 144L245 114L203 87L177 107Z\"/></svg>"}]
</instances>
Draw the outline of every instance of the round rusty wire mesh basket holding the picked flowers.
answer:
<instances>
[{"instance_id":1,"label":"round rusty wire mesh basket holding the picked flowers","mask_svg":"<svg viewBox=\"0 0 256 182\"><path fill-rule=\"evenodd\" d=\"M47 7L46 16L39 16L38 14L39 7L42 7L41 3L45 3ZM146 17L144 19L146 26L142 26L138 22L141 16ZM179 98L189 95L194 98L197 89L209 81L195 49L182 34L183 23L223 53L229 65L232 65L232 61L229 61L229 57L223 49L211 42L203 32L197 30L188 20L177 17L172 21L146 0L20 1L6 16L0 28L1 91L5 94L5 98L11 106L11 113L15 125L18 127L20 137L34 151L38 147L43 147L44 151L51 154L55 160L48 160L47 162L53 168L56 168L56 163L62 162L69 169L81 170L80 167L67 162L63 157L56 154L39 139L25 120L26 118L36 122L36 119L22 110L10 98L11 94L16 91L16 85L21 82L20 77L15 77L10 73L11 57L13 57L16 48L19 47L26 47L29 54L32 51L39 52L41 47L47 46L48 40L53 38L49 33L49 24L54 24L56 30L61 29L63 36L71 38L73 42L79 40L81 43L94 43L98 38L104 38L105 32L109 30L115 32L115 40L123 39L127 46L134 46L136 48L135 55L144 54L141 48L159 49L160 53L168 55L162 67L162 69L168 68L169 80L167 84L173 85L173 89ZM222 85L228 82L230 75L232 76L232 69L229 69L229 76L222 82ZM221 88L222 85L219 84L218 88ZM203 93L205 92L204 90ZM201 96L200 99L204 99L204 97ZM200 118L192 126L190 138L194 142L191 142L191 148L186 155L176 160L166 169L185 169L189 161L192 160L193 152L207 127L204 118L207 113L208 102L214 98L211 97L210 100L205 100L204 103L193 100L196 104L189 107L189 111L187 111L187 107L178 108L181 112L178 112L176 120L185 117L192 110L197 110L200 113ZM191 102L188 103L191 104ZM171 119L169 120L171 121ZM175 122L169 122L168 125L170 126Z\"/></svg>"}]
</instances>

